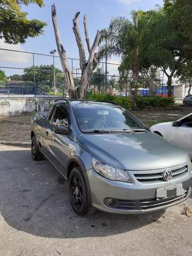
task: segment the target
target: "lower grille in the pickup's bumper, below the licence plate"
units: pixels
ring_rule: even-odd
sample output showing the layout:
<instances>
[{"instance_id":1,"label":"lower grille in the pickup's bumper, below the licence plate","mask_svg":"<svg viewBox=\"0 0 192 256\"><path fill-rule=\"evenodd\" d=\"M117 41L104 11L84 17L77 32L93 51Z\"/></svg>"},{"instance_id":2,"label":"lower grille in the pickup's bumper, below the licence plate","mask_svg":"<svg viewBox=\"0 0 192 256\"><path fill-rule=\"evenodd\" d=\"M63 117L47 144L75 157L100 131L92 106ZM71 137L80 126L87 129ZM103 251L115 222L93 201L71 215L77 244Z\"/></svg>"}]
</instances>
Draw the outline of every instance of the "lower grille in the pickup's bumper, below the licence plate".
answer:
<instances>
[{"instance_id":1,"label":"lower grille in the pickup's bumper, below the licence plate","mask_svg":"<svg viewBox=\"0 0 192 256\"><path fill-rule=\"evenodd\" d=\"M166 206L168 207L168 206L171 206L172 204L185 201L185 199L187 199L190 193L191 193L191 187L186 189L185 193L181 196L169 197L162 200L157 200L156 198L142 199L142 200L139 200L140 207L141 207L141 210L143 211L154 209L154 208L166 207Z\"/></svg>"}]
</instances>

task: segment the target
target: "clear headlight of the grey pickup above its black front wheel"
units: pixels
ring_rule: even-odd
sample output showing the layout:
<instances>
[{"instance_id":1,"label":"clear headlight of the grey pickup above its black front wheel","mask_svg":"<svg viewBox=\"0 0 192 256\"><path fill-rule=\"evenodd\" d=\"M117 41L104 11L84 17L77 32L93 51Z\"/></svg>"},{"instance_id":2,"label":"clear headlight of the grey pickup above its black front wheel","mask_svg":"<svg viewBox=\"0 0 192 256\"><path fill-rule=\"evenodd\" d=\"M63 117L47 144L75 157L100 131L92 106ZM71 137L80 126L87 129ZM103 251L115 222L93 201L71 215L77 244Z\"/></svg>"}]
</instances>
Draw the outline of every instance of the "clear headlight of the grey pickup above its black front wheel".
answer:
<instances>
[{"instance_id":1,"label":"clear headlight of the grey pickup above its black front wheel","mask_svg":"<svg viewBox=\"0 0 192 256\"><path fill-rule=\"evenodd\" d=\"M94 157L92 158L92 164L96 172L109 180L119 180L129 183L133 182L125 170L104 164Z\"/></svg>"}]
</instances>

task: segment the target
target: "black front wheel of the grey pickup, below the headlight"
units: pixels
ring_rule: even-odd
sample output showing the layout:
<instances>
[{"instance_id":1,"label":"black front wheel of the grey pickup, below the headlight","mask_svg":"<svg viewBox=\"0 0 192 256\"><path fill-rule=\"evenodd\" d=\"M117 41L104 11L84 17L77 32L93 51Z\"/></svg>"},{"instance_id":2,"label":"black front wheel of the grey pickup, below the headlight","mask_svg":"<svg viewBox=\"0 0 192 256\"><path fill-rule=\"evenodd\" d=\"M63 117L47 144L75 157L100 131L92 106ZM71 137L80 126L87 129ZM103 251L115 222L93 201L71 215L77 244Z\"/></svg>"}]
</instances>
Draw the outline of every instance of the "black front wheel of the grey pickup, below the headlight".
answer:
<instances>
[{"instance_id":1,"label":"black front wheel of the grey pickup, below the headlight","mask_svg":"<svg viewBox=\"0 0 192 256\"><path fill-rule=\"evenodd\" d=\"M69 175L69 197L71 205L78 215L91 214L95 211L87 203L86 185L78 167L72 169Z\"/></svg>"}]
</instances>

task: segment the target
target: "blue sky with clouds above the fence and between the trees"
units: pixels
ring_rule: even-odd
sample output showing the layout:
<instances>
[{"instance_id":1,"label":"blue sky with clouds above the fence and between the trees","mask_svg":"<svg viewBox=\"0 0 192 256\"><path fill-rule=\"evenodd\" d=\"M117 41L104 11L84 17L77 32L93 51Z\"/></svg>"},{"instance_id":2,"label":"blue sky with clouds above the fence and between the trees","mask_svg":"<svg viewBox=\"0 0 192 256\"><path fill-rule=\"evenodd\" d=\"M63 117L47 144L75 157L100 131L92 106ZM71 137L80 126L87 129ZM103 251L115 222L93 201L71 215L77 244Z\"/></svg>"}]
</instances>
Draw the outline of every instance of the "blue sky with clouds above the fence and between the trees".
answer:
<instances>
[{"instance_id":1,"label":"blue sky with clouds above the fence and between the trees","mask_svg":"<svg viewBox=\"0 0 192 256\"><path fill-rule=\"evenodd\" d=\"M87 15L88 34L92 44L97 30L108 28L111 18L125 17L131 20L130 13L132 10L149 11L154 10L156 4L163 6L163 0L44 0L44 3L45 6L42 8L37 4L22 6L22 11L28 13L28 19L38 19L47 23L47 26L44 28L44 35L35 38L27 38L25 44L18 45L5 44L3 40L0 39L0 49L41 54L50 54L50 51L57 49L51 17L51 5L53 5L53 3L57 10L57 22L61 42L66 50L67 58L75 59L79 59L78 47L72 29L76 12L80 12L78 26L86 49L83 27L84 14ZM55 55L58 56L58 53L56 52ZM88 56L86 54L86 59L87 58ZM111 59L109 62L118 63L115 59Z\"/></svg>"}]
</instances>

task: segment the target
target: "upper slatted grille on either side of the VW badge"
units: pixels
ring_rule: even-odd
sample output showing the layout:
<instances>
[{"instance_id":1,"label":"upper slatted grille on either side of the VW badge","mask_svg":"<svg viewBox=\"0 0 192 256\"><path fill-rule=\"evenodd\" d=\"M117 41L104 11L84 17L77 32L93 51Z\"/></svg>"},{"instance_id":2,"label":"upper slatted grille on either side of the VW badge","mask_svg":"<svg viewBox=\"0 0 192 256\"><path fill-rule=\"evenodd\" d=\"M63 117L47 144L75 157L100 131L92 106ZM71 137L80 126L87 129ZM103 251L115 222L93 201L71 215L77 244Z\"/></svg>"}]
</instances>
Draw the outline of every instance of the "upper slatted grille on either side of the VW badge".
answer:
<instances>
[{"instance_id":1,"label":"upper slatted grille on either side of the VW badge","mask_svg":"<svg viewBox=\"0 0 192 256\"><path fill-rule=\"evenodd\" d=\"M134 177L140 182L154 182L154 181L165 181L163 178L163 172L166 169L162 170L152 170L152 171L142 171L134 173ZM188 166L177 166L177 167L171 167L169 170L172 172L173 180L184 177L188 172Z\"/></svg>"}]
</instances>

